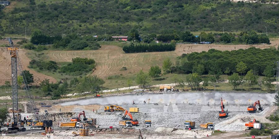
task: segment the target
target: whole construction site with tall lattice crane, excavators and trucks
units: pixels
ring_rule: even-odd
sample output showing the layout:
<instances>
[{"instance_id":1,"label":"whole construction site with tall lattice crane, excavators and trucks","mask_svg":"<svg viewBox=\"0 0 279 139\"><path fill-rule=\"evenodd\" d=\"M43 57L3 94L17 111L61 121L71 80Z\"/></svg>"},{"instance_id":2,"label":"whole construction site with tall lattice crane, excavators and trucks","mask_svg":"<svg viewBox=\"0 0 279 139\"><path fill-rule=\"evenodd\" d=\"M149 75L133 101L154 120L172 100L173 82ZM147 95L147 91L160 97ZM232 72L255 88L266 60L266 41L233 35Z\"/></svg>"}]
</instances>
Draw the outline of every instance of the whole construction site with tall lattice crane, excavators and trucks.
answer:
<instances>
[{"instance_id":1,"label":"whole construction site with tall lattice crane, excavators and trucks","mask_svg":"<svg viewBox=\"0 0 279 139\"><path fill-rule=\"evenodd\" d=\"M246 134L250 129L264 129L263 123L272 123L266 117L276 110L275 93L180 92L174 86L90 98L33 101L18 48L8 40L12 107L10 118L1 128L3 139L224 138L212 135L222 131L232 137ZM26 102L18 101L18 74L23 75Z\"/></svg>"}]
</instances>

